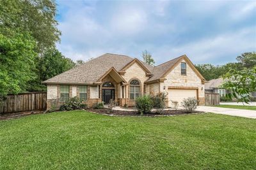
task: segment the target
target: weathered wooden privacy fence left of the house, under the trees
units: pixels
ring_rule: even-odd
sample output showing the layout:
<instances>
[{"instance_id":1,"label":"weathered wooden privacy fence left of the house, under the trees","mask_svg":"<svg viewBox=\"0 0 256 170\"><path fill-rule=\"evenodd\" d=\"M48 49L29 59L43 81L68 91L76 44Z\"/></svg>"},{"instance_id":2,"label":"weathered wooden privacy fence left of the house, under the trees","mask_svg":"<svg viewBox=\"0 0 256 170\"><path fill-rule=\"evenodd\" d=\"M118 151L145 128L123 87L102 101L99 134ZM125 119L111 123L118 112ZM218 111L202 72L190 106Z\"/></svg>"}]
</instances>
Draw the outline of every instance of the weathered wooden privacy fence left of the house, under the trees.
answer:
<instances>
[{"instance_id":1,"label":"weathered wooden privacy fence left of the house, under the trees","mask_svg":"<svg viewBox=\"0 0 256 170\"><path fill-rule=\"evenodd\" d=\"M33 110L46 110L46 92L10 94L0 103L0 114Z\"/></svg>"}]
</instances>

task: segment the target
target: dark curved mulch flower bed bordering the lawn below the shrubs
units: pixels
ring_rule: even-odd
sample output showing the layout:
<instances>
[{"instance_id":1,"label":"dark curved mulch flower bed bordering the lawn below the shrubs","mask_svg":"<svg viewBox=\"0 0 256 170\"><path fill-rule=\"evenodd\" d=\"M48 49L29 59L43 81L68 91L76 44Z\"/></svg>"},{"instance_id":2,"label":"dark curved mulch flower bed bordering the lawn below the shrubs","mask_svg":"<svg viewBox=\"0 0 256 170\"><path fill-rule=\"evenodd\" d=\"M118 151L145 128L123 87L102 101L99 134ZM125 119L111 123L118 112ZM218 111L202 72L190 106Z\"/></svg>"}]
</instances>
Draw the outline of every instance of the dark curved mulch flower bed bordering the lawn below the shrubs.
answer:
<instances>
[{"instance_id":1,"label":"dark curved mulch flower bed bordering the lawn below the shrubs","mask_svg":"<svg viewBox=\"0 0 256 170\"><path fill-rule=\"evenodd\" d=\"M104 115L116 115L116 116L145 116L145 117L159 117L159 116L173 116L173 115L188 115L195 113L204 113L202 111L193 111L192 113L184 112L182 110L164 110L161 114L156 113L156 111L152 111L152 113L147 113L140 115L138 111L123 111L123 110L113 110L109 111L108 108L103 109L87 109L87 111L91 111L94 113L104 114Z\"/></svg>"}]
</instances>

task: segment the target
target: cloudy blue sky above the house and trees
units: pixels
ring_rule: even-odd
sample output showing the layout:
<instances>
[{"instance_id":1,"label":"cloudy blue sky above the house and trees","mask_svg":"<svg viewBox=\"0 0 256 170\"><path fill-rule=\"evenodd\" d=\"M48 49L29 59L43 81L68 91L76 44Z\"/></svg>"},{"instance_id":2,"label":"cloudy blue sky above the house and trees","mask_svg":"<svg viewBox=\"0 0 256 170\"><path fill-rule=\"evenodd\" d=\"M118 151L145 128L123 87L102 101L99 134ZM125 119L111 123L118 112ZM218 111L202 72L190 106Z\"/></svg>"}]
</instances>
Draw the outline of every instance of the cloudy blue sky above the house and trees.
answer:
<instances>
[{"instance_id":1,"label":"cloudy blue sky above the house and trees","mask_svg":"<svg viewBox=\"0 0 256 170\"><path fill-rule=\"evenodd\" d=\"M57 1L58 49L73 60L103 53L161 64L186 54L195 64L234 62L256 51L256 1Z\"/></svg>"}]
</instances>

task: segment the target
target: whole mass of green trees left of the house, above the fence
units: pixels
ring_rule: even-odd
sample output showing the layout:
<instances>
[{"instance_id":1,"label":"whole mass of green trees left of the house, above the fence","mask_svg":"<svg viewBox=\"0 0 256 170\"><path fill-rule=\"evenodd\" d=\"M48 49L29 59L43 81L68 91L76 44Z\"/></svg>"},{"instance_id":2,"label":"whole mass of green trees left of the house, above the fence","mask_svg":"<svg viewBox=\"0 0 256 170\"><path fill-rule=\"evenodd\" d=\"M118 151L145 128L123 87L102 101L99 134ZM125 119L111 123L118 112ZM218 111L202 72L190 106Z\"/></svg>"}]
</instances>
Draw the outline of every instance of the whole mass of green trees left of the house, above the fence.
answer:
<instances>
[{"instance_id":1,"label":"whole mass of green trees left of the house, above the fence","mask_svg":"<svg viewBox=\"0 0 256 170\"><path fill-rule=\"evenodd\" d=\"M55 47L61 32L54 0L0 1L0 98L44 91L42 81L75 66Z\"/></svg>"}]
</instances>

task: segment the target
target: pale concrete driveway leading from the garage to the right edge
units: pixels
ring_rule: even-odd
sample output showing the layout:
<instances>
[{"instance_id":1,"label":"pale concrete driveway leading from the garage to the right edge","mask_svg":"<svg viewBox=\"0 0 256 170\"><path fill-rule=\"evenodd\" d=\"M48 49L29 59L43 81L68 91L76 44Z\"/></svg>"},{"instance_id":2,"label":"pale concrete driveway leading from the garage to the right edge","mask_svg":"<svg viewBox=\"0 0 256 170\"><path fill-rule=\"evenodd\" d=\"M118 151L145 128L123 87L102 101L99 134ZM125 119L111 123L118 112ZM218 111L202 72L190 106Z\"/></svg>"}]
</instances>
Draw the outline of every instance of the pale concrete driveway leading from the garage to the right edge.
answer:
<instances>
[{"instance_id":1,"label":"pale concrete driveway leading from the garage to the right edge","mask_svg":"<svg viewBox=\"0 0 256 170\"><path fill-rule=\"evenodd\" d=\"M238 109L217 108L217 107L210 107L210 106L198 106L196 110L211 112L211 113L218 113L223 115L236 116L236 117L256 118L256 110L238 110Z\"/></svg>"}]
</instances>

